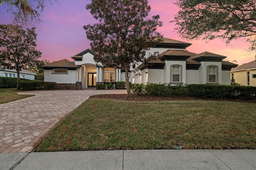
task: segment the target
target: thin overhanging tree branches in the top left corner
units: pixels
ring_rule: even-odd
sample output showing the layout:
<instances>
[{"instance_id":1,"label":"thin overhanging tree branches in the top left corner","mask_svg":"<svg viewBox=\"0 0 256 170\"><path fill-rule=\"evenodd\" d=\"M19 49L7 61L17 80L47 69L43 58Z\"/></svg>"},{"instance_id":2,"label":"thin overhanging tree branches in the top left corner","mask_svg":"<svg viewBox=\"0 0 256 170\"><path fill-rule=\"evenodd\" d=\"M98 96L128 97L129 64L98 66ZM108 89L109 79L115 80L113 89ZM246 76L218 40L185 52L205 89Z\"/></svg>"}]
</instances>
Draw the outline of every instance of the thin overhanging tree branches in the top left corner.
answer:
<instances>
[{"instance_id":1,"label":"thin overhanging tree branches in the top left corner","mask_svg":"<svg viewBox=\"0 0 256 170\"><path fill-rule=\"evenodd\" d=\"M52 0L49 2L52 3ZM0 0L0 5L5 4L7 11L14 15L14 23L23 25L42 21L40 13L44 10L44 3L45 0Z\"/></svg>"}]
</instances>

